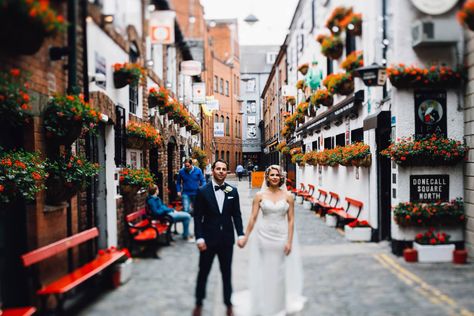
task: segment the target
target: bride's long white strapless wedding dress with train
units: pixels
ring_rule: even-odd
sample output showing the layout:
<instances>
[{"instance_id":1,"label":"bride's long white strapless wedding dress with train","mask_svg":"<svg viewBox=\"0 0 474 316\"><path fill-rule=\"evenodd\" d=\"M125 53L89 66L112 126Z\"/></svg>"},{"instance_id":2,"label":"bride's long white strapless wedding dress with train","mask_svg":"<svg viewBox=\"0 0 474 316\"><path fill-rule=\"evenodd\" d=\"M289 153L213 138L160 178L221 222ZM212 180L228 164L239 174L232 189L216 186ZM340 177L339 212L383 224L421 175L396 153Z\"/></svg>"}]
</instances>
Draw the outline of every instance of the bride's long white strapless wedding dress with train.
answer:
<instances>
[{"instance_id":1,"label":"bride's long white strapless wedding dress with train","mask_svg":"<svg viewBox=\"0 0 474 316\"><path fill-rule=\"evenodd\" d=\"M303 268L296 231L290 255L284 253L288 239L288 202L260 202L255 231L249 239L249 290L235 293L238 316L284 316L303 309Z\"/></svg>"}]
</instances>

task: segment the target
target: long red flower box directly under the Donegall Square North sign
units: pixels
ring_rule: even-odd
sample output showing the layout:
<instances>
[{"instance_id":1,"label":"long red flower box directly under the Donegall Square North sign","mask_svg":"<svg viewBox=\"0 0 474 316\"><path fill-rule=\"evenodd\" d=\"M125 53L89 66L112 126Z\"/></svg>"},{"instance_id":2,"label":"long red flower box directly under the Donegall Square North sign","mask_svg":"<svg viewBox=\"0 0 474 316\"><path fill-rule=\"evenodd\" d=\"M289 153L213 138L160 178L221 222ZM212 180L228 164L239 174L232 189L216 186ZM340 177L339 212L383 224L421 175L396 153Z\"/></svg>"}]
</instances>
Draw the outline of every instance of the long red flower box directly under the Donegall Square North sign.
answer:
<instances>
[{"instance_id":1,"label":"long red flower box directly under the Donegall Square North sign","mask_svg":"<svg viewBox=\"0 0 474 316\"><path fill-rule=\"evenodd\" d=\"M400 226L462 225L466 220L461 198L451 202L399 203L393 209L393 217Z\"/></svg>"}]
</instances>

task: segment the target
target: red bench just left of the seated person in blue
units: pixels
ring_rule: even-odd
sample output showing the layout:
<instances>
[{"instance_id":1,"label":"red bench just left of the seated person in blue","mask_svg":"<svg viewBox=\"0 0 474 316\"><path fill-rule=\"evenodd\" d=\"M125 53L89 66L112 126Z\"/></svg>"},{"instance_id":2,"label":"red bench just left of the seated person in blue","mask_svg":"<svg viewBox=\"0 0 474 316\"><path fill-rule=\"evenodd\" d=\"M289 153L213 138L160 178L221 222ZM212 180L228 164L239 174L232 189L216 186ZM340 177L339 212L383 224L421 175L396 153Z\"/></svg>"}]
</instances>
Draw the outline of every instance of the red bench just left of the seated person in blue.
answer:
<instances>
[{"instance_id":1,"label":"red bench just left of the seated person in blue","mask_svg":"<svg viewBox=\"0 0 474 316\"><path fill-rule=\"evenodd\" d=\"M125 217L128 233L131 240L131 248L145 245L153 251L156 256L156 248L160 238L164 237L166 245L171 241L171 224L173 220L169 216L162 216L158 219L151 219L145 208L130 213Z\"/></svg>"}]
</instances>

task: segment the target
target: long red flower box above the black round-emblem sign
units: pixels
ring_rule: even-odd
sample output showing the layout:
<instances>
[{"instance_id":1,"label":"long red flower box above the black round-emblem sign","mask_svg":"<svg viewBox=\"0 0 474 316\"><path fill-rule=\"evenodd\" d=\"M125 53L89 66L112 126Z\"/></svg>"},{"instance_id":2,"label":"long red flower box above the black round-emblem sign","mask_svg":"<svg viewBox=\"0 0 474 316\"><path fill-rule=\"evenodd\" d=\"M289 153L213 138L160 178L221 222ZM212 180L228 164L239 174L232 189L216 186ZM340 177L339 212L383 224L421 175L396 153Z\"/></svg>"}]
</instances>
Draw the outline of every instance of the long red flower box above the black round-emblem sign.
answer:
<instances>
[{"instance_id":1,"label":"long red flower box above the black round-emblem sign","mask_svg":"<svg viewBox=\"0 0 474 316\"><path fill-rule=\"evenodd\" d=\"M387 68L388 78L397 88L457 87L462 80L462 72L448 66L419 68L398 64Z\"/></svg>"}]
</instances>

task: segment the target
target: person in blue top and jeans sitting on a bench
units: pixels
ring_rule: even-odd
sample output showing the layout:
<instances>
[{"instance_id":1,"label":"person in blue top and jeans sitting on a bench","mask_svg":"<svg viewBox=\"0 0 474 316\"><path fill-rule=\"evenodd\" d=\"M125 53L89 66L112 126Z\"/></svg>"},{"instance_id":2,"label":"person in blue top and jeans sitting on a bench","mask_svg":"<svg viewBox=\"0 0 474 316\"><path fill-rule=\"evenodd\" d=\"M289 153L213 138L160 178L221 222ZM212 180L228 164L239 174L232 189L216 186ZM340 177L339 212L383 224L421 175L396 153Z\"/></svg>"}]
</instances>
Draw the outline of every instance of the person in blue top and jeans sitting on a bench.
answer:
<instances>
[{"instance_id":1,"label":"person in blue top and jeans sitting on a bench","mask_svg":"<svg viewBox=\"0 0 474 316\"><path fill-rule=\"evenodd\" d=\"M146 203L150 209L152 217L158 217L167 214L173 219L174 222L182 222L183 239L189 242L194 242L194 238L189 235L189 222L191 221L191 215L186 212L177 212L174 209L166 206L158 197L158 193L158 186L156 185L152 185L148 189Z\"/></svg>"}]
</instances>

